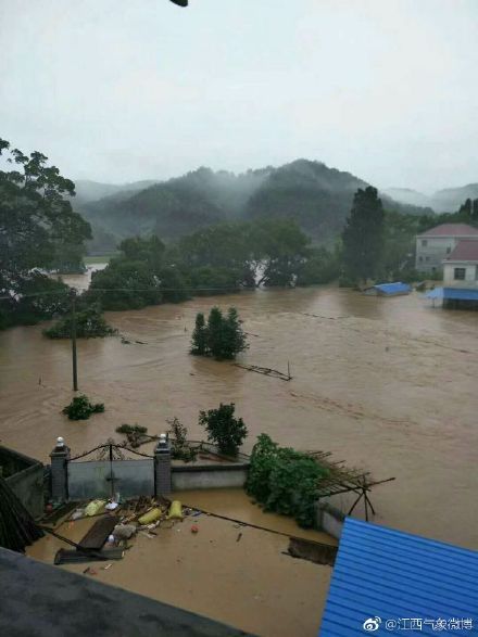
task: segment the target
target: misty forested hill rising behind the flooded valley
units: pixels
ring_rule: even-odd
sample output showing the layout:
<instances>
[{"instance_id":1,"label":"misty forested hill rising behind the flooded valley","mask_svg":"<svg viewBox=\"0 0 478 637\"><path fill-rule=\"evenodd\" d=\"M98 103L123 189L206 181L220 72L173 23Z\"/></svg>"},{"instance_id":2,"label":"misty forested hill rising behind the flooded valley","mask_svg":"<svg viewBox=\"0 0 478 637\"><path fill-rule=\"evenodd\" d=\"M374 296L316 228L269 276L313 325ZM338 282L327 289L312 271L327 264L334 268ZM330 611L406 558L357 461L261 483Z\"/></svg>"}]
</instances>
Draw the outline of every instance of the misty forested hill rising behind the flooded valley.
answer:
<instances>
[{"instance_id":1,"label":"misty forested hill rising behind the flooded valley","mask_svg":"<svg viewBox=\"0 0 478 637\"><path fill-rule=\"evenodd\" d=\"M316 242L327 243L341 231L354 192L366 186L350 173L297 160L240 175L202 167L143 190L123 189L76 206L92 225L91 249L97 252L133 234L153 232L168 241L225 219L285 216L297 219ZM398 212L426 212L386 195L383 203Z\"/></svg>"}]
</instances>

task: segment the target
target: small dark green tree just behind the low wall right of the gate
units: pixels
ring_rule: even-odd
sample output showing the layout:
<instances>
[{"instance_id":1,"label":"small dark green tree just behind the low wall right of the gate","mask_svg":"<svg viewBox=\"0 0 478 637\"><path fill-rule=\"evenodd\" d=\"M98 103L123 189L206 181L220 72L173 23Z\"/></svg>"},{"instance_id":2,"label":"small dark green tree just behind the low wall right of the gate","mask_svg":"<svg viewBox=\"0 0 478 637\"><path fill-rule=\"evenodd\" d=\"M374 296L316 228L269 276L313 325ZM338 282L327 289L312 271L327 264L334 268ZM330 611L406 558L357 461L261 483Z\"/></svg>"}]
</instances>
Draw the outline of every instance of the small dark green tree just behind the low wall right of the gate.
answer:
<instances>
[{"instance_id":1,"label":"small dark green tree just behind the low wall right of the gate","mask_svg":"<svg viewBox=\"0 0 478 637\"><path fill-rule=\"evenodd\" d=\"M248 435L242 418L235 418L236 406L223 405L218 409L199 412L199 424L207 432L207 439L217 445L218 450L226 456L237 456L239 447Z\"/></svg>"}]
</instances>

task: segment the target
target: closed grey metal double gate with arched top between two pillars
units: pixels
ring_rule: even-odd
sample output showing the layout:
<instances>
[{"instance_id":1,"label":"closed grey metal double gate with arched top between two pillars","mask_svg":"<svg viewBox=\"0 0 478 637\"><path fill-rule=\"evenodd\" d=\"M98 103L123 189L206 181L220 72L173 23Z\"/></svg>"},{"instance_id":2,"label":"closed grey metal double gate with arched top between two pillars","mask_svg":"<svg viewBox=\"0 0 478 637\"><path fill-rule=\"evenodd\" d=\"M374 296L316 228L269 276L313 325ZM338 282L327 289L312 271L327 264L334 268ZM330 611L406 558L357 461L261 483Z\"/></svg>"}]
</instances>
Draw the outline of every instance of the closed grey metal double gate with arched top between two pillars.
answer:
<instances>
[{"instance_id":1,"label":"closed grey metal double gate with arched top between two pillars","mask_svg":"<svg viewBox=\"0 0 478 637\"><path fill-rule=\"evenodd\" d=\"M96 453L96 457L84 460ZM134 454L134 457L127 457ZM68 461L68 498L153 496L154 456L122 447L113 441Z\"/></svg>"}]
</instances>

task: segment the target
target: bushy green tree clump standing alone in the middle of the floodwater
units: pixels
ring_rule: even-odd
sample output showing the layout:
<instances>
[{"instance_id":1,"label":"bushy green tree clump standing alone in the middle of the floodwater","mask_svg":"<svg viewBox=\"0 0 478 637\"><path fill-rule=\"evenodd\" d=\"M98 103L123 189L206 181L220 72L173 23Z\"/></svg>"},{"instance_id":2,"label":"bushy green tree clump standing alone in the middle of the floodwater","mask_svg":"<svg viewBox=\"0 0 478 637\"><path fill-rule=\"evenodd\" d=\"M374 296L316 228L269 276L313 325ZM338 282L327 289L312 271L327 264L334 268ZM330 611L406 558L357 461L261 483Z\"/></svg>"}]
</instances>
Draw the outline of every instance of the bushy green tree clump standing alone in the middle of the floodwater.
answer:
<instances>
[{"instance_id":1,"label":"bushy green tree clump standing alone in the middle of the floodwater","mask_svg":"<svg viewBox=\"0 0 478 637\"><path fill-rule=\"evenodd\" d=\"M246 334L235 307L224 316L218 307L210 311L207 323L204 315L196 317L190 353L196 356L212 356L216 360L230 360L248 348Z\"/></svg>"}]
</instances>

